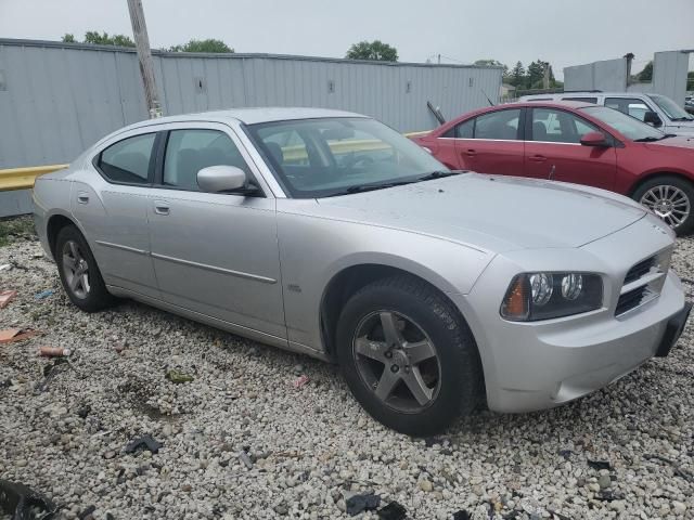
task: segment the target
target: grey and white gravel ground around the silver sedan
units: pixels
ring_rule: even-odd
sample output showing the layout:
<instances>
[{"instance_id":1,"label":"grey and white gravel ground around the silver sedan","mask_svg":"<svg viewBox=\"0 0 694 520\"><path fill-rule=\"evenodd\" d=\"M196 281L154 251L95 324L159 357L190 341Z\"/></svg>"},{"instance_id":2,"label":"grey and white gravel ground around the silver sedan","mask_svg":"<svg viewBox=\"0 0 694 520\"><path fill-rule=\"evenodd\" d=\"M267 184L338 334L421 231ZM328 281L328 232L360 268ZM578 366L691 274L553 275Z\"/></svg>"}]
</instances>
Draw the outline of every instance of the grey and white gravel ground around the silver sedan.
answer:
<instances>
[{"instance_id":1,"label":"grey and white gravel ground around the silver sedan","mask_svg":"<svg viewBox=\"0 0 694 520\"><path fill-rule=\"evenodd\" d=\"M59 518L95 506L95 519L332 519L346 517L354 492L397 500L412 519L461 509L479 519L694 518L691 327L667 359L578 402L480 412L417 440L371 419L327 364L134 302L81 313L38 243L11 240L0 264L17 266L0 271L0 288L18 295L0 328L43 334L0 344L0 478L44 493ZM679 242L684 278L694 278L693 253L694 239ZM46 289L55 292L37 300ZM40 391L52 364L36 355L43 344L73 354ZM170 382L171 368L194 380ZM297 389L300 374L310 381ZM144 433L164 446L127 454Z\"/></svg>"}]
</instances>

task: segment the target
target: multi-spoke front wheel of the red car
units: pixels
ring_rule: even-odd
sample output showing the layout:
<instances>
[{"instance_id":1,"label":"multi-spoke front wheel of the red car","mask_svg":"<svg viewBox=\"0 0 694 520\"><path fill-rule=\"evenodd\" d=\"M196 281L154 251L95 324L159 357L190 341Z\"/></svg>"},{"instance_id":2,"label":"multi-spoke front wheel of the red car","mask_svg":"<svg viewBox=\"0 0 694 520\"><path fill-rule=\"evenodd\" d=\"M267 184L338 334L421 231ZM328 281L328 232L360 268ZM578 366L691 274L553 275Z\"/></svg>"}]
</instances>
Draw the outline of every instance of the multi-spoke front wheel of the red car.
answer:
<instances>
[{"instance_id":1,"label":"multi-spoke front wheel of the red car","mask_svg":"<svg viewBox=\"0 0 694 520\"><path fill-rule=\"evenodd\" d=\"M633 199L660 217L678 235L694 229L694 186L672 176L656 177L644 182Z\"/></svg>"}]
</instances>

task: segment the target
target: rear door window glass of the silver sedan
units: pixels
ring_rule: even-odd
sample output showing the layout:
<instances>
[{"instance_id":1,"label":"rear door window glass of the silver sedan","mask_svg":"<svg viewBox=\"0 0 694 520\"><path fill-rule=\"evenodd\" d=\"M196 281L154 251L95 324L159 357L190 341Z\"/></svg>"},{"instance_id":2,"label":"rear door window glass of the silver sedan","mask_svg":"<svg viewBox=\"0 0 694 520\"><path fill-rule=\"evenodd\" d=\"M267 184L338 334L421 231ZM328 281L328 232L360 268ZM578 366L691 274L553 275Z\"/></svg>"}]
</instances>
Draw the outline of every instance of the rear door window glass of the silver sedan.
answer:
<instances>
[{"instance_id":1,"label":"rear door window glass of the silver sedan","mask_svg":"<svg viewBox=\"0 0 694 520\"><path fill-rule=\"evenodd\" d=\"M99 169L113 182L147 184L154 169L152 148L155 136L155 133L145 133L112 144L99 156Z\"/></svg>"}]
</instances>

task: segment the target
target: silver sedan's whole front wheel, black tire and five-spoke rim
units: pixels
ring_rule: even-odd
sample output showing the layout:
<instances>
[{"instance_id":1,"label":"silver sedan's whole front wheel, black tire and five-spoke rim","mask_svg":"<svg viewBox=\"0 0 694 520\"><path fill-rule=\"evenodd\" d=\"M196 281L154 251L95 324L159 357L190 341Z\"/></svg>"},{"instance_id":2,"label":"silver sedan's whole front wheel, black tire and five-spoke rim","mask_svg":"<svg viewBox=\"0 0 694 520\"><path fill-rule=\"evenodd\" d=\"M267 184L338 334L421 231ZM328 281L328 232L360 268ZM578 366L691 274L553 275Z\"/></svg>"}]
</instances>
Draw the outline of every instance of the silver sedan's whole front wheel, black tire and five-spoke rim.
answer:
<instances>
[{"instance_id":1,"label":"silver sedan's whole front wheel, black tire and five-spoke rim","mask_svg":"<svg viewBox=\"0 0 694 520\"><path fill-rule=\"evenodd\" d=\"M467 325L450 301L411 276L373 282L349 299L337 358L357 401L402 433L438 433L472 412L480 394Z\"/></svg>"}]
</instances>

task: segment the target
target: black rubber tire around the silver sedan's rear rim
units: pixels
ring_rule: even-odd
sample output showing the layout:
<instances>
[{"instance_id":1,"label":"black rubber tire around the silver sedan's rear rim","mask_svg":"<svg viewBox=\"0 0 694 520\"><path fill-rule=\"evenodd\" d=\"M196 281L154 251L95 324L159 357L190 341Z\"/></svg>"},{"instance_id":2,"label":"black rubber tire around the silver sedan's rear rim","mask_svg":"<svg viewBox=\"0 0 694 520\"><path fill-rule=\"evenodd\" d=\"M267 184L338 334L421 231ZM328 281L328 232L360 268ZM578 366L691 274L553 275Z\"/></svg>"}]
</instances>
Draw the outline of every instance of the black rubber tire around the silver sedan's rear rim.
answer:
<instances>
[{"instance_id":1,"label":"black rubber tire around the silver sedan's rear rim","mask_svg":"<svg viewBox=\"0 0 694 520\"><path fill-rule=\"evenodd\" d=\"M70 244L75 244L79 251L79 257L85 261L87 270L86 275L88 280L87 287L82 285L82 289L73 289L69 286L68 280L73 275L68 272L68 268L64 261L64 251L69 249ZM115 302L115 298L106 289L104 280L101 276L97 260L87 244L87 240L74 225L66 225L59 233L55 239L55 263L57 264L57 272L61 276L61 282L67 297L70 301L85 312L98 312L107 307L111 307Z\"/></svg>"}]
</instances>

